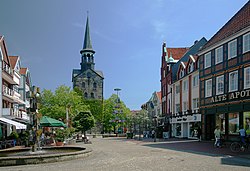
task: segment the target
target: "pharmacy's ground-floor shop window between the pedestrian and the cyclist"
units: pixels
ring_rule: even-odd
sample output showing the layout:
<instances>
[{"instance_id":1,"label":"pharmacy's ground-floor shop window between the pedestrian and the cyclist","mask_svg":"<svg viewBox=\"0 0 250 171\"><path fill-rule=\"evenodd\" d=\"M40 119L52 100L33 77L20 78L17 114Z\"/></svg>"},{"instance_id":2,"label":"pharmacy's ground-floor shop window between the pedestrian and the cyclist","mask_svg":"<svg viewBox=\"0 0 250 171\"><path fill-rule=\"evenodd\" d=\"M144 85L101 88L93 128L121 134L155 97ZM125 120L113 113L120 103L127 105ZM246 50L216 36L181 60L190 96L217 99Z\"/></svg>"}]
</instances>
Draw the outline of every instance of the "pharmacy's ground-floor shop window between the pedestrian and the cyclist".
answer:
<instances>
[{"instance_id":1,"label":"pharmacy's ground-floor shop window between the pedestrian and the cyclist","mask_svg":"<svg viewBox=\"0 0 250 171\"><path fill-rule=\"evenodd\" d=\"M239 113L228 114L229 134L239 134Z\"/></svg>"}]
</instances>

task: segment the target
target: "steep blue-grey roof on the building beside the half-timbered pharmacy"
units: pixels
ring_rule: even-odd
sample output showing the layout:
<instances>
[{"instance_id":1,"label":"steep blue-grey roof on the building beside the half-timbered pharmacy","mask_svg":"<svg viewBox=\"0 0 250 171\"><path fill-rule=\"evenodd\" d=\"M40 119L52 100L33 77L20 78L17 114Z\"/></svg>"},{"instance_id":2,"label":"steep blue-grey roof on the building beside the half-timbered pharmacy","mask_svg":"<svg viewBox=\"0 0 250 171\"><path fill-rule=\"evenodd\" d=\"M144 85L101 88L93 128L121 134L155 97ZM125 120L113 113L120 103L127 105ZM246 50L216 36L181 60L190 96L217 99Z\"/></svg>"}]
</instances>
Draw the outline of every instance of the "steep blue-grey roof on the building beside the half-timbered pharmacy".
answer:
<instances>
[{"instance_id":1,"label":"steep blue-grey roof on the building beside the half-timbered pharmacy","mask_svg":"<svg viewBox=\"0 0 250 171\"><path fill-rule=\"evenodd\" d=\"M198 51L207 43L207 40L203 37L201 38L199 41L196 41L195 44L190 47L190 49L182 56L182 58L173 65L172 67L172 78L173 78L173 82L177 81L177 74L178 74L178 69L180 65L186 65L190 55L195 56Z\"/></svg>"}]
</instances>

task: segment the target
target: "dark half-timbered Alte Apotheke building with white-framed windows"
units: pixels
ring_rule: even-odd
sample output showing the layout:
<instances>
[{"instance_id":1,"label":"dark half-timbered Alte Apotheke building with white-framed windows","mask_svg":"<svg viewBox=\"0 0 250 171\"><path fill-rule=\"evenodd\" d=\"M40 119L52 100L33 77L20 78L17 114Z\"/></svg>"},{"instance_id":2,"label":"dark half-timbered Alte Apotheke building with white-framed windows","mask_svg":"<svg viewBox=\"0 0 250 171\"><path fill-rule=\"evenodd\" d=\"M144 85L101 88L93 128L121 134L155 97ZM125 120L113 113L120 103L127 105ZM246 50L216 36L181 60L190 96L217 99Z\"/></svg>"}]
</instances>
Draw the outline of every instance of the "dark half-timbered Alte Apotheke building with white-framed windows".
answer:
<instances>
[{"instance_id":1,"label":"dark half-timbered Alte Apotheke building with white-framed windows","mask_svg":"<svg viewBox=\"0 0 250 171\"><path fill-rule=\"evenodd\" d=\"M250 133L250 2L201 49L200 111L203 138L213 139L216 125L226 139L240 125Z\"/></svg>"}]
</instances>

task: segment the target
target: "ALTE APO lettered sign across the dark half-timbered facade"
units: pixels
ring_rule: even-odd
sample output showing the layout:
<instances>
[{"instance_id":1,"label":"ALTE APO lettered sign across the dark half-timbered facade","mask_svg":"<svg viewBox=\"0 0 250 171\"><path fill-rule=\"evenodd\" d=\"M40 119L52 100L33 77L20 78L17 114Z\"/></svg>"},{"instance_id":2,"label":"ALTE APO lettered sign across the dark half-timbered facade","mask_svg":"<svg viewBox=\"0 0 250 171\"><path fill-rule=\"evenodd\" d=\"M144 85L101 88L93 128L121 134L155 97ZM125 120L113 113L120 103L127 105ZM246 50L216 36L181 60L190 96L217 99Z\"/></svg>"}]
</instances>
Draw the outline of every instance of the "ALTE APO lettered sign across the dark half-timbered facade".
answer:
<instances>
[{"instance_id":1,"label":"ALTE APO lettered sign across the dark half-timbered facade","mask_svg":"<svg viewBox=\"0 0 250 171\"><path fill-rule=\"evenodd\" d=\"M212 103L223 102L226 100L233 100L233 99L244 98L244 97L250 97L250 89L214 96L211 98L211 102Z\"/></svg>"}]
</instances>

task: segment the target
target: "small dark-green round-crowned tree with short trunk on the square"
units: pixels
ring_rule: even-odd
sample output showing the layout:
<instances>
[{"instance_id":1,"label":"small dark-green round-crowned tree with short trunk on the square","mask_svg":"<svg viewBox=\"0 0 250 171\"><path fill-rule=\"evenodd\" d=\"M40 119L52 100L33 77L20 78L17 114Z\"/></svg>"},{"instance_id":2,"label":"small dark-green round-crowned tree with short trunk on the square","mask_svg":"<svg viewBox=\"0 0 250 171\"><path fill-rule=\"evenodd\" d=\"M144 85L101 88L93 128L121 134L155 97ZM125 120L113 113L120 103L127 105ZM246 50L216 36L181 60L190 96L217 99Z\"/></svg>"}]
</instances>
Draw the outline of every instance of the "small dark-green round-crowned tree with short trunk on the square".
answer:
<instances>
[{"instance_id":1,"label":"small dark-green round-crowned tree with short trunk on the square","mask_svg":"<svg viewBox=\"0 0 250 171\"><path fill-rule=\"evenodd\" d=\"M86 131L95 126L95 118L90 111L79 112L73 121L73 126L77 131L84 133L84 137L86 137Z\"/></svg>"}]
</instances>

